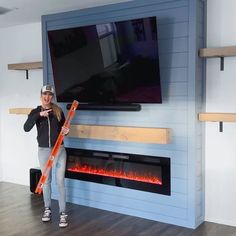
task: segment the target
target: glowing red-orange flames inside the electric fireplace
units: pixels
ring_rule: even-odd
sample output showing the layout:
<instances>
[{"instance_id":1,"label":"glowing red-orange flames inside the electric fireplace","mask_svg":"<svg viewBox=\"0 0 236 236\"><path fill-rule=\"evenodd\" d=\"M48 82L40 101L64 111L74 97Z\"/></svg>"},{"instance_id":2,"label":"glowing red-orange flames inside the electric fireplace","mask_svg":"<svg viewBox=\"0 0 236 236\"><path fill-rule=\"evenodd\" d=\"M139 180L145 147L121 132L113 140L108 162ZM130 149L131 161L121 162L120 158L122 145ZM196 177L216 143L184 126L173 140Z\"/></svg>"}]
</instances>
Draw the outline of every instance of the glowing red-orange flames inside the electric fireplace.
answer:
<instances>
[{"instance_id":1,"label":"glowing red-orange flames inside the electric fireplace","mask_svg":"<svg viewBox=\"0 0 236 236\"><path fill-rule=\"evenodd\" d=\"M78 165L76 167L68 168L67 170L84 174L102 175L107 177L128 179L144 183L162 185L162 181L159 178L153 176L152 174L140 175L133 171L124 172L120 170L106 170L103 168L98 169L96 167L88 165L83 165L83 166Z\"/></svg>"}]
</instances>

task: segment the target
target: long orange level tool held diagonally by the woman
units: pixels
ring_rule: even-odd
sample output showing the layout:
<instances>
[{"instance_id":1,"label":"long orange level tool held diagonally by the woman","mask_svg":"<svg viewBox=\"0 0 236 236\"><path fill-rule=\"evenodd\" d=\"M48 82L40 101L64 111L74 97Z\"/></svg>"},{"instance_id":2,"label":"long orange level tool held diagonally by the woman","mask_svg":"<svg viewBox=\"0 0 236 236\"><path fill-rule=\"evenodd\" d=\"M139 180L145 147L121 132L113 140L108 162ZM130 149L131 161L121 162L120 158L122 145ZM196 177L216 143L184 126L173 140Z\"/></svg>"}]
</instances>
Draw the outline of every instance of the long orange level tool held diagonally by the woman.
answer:
<instances>
[{"instance_id":1,"label":"long orange level tool held diagonally by the woman","mask_svg":"<svg viewBox=\"0 0 236 236\"><path fill-rule=\"evenodd\" d=\"M70 110L69 110L69 112L68 112L68 114L66 116L66 120L65 120L65 123L64 123L63 127L65 127L65 128L69 128L70 127L70 122L71 122L72 118L75 115L75 110L77 109L78 105L79 105L79 103L76 100L74 100L72 105L71 105L71 107L70 107ZM48 178L50 170L52 169L52 165L53 165L54 159L55 159L55 157L56 157L56 155L57 155L57 153L59 151L59 148L61 146L61 143L62 143L63 139L64 139L64 134L61 131L60 134L57 137L57 141L56 141L56 143L55 143L55 145L54 145L54 147L53 147L53 149L51 151L51 154L48 157L48 161L47 161L46 166L45 166L45 168L43 170L41 178L40 178L40 180L38 182L38 185L37 185L37 188L35 190L35 193L38 193L38 194L42 193L43 185L44 185L44 183L46 182L46 180Z\"/></svg>"}]
</instances>

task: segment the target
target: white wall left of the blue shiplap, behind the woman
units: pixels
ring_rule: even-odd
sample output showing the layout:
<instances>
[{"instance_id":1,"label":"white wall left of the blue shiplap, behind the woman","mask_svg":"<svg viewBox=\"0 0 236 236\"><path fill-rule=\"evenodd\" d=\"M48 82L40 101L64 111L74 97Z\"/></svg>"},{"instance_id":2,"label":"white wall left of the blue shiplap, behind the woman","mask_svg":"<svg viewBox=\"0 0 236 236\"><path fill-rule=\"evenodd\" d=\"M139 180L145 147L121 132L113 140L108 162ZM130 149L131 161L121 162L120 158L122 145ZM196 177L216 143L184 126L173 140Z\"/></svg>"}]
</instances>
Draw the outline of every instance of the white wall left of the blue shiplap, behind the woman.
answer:
<instances>
[{"instance_id":1,"label":"white wall left of the blue shiplap, behind the woman","mask_svg":"<svg viewBox=\"0 0 236 236\"><path fill-rule=\"evenodd\" d=\"M41 61L41 24L0 29L0 180L29 185L29 169L38 166L36 129L25 133L26 115L10 115L9 108L40 103L42 70L8 70L11 63Z\"/></svg>"}]
</instances>

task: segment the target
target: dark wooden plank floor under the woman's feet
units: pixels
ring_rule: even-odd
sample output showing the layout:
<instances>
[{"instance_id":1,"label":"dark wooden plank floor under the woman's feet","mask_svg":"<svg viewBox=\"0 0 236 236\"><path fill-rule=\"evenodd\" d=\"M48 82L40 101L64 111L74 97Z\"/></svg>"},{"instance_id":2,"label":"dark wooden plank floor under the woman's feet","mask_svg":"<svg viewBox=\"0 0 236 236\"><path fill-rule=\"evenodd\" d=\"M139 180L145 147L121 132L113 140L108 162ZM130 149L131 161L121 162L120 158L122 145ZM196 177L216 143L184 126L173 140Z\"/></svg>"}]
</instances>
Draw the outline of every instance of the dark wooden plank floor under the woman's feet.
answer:
<instances>
[{"instance_id":1,"label":"dark wooden plank floor under the woman's feet","mask_svg":"<svg viewBox=\"0 0 236 236\"><path fill-rule=\"evenodd\" d=\"M41 221L42 197L22 185L0 182L0 235L41 236L236 236L236 227L203 223L196 230L68 204L69 226L58 226L57 201L51 222Z\"/></svg>"}]
</instances>

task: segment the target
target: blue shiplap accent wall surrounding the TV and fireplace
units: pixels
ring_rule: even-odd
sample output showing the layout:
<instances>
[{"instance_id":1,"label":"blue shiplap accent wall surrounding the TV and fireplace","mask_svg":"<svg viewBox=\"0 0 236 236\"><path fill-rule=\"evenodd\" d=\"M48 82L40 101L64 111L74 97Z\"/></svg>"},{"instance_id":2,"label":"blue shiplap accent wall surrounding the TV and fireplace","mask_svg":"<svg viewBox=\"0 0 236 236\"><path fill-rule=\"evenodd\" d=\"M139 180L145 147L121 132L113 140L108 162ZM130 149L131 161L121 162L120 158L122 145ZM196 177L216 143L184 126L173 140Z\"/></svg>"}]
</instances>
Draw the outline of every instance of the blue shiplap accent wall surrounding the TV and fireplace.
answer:
<instances>
[{"instance_id":1,"label":"blue shiplap accent wall surrounding the TV and fireplace","mask_svg":"<svg viewBox=\"0 0 236 236\"><path fill-rule=\"evenodd\" d=\"M171 128L168 145L67 138L68 147L171 158L171 196L67 180L68 201L156 221L197 227L204 220L201 125L204 64L202 0L136 0L42 17L44 82L52 83L47 30L156 16L163 103L140 112L78 111L74 124ZM64 109L66 104L60 104ZM65 110L66 111L66 110ZM53 197L57 192L53 186Z\"/></svg>"}]
</instances>

